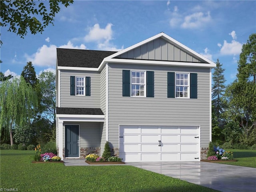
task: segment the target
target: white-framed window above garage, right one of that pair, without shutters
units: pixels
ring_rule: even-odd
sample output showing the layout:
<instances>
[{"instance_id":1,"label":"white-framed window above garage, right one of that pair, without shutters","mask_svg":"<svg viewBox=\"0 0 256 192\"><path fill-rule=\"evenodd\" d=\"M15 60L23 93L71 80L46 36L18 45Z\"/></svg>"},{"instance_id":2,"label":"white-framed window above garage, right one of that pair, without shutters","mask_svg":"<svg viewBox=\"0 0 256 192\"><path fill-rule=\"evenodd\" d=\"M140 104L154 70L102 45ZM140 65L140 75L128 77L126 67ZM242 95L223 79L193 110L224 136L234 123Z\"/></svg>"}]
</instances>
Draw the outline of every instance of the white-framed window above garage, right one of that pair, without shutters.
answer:
<instances>
[{"instance_id":1,"label":"white-framed window above garage, right one of that pair, without shutters","mask_svg":"<svg viewBox=\"0 0 256 192\"><path fill-rule=\"evenodd\" d=\"M176 73L175 82L176 82L175 96L188 98L188 90L189 90L188 74Z\"/></svg>"}]
</instances>

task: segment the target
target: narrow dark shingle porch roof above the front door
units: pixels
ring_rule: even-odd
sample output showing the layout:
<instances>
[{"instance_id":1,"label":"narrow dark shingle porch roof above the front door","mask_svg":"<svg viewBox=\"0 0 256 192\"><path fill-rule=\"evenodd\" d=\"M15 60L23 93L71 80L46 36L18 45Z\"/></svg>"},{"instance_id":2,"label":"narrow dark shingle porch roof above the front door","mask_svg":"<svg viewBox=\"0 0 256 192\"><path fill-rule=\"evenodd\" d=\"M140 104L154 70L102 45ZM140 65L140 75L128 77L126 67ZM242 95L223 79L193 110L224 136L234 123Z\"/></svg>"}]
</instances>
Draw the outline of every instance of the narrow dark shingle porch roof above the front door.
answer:
<instances>
[{"instance_id":1,"label":"narrow dark shingle porch roof above the front door","mask_svg":"<svg viewBox=\"0 0 256 192\"><path fill-rule=\"evenodd\" d=\"M69 108L69 107L56 107L56 114L104 115L104 113L100 108Z\"/></svg>"}]
</instances>

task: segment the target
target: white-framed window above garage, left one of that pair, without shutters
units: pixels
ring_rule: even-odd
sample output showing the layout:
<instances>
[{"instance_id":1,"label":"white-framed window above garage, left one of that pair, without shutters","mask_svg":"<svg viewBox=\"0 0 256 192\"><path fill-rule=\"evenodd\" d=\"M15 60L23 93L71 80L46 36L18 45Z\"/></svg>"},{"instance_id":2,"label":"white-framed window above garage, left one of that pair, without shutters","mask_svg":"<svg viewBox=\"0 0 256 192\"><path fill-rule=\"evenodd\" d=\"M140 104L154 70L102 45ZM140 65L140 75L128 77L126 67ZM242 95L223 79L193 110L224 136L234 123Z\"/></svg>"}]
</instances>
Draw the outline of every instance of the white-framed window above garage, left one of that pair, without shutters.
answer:
<instances>
[{"instance_id":1,"label":"white-framed window above garage, left one of that pair, without shutters","mask_svg":"<svg viewBox=\"0 0 256 192\"><path fill-rule=\"evenodd\" d=\"M131 82L132 96L145 96L145 72L132 71Z\"/></svg>"}]
</instances>

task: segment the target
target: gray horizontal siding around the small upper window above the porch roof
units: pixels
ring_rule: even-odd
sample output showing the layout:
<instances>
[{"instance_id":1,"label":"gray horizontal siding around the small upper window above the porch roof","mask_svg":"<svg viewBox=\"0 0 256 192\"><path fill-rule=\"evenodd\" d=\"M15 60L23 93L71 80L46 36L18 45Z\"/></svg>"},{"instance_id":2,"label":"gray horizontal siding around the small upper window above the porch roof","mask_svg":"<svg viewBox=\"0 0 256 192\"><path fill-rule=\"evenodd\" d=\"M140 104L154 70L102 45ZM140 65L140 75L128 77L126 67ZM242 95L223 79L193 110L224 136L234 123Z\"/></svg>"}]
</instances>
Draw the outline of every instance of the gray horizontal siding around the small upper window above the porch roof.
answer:
<instances>
[{"instance_id":1,"label":"gray horizontal siding around the small upper window above the porch roof","mask_svg":"<svg viewBox=\"0 0 256 192\"><path fill-rule=\"evenodd\" d=\"M70 76L91 77L91 96L71 96ZM61 70L60 107L100 108L100 72Z\"/></svg>"}]
</instances>

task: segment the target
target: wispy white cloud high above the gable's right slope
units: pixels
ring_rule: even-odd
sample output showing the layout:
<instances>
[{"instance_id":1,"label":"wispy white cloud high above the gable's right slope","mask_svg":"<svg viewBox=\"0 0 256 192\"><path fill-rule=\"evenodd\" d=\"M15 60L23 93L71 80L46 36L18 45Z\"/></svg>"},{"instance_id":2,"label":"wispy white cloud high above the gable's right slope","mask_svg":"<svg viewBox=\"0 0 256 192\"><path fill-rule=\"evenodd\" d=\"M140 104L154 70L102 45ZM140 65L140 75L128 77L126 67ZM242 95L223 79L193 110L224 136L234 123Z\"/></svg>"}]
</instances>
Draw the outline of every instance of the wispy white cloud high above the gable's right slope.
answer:
<instances>
[{"instance_id":1,"label":"wispy white cloud high above the gable's right slope","mask_svg":"<svg viewBox=\"0 0 256 192\"><path fill-rule=\"evenodd\" d=\"M182 28L199 28L203 26L204 24L210 22L212 20L210 16L210 11L208 11L206 14L202 12L193 13L191 15L188 15L184 18L184 22L182 23Z\"/></svg>"}]
</instances>

